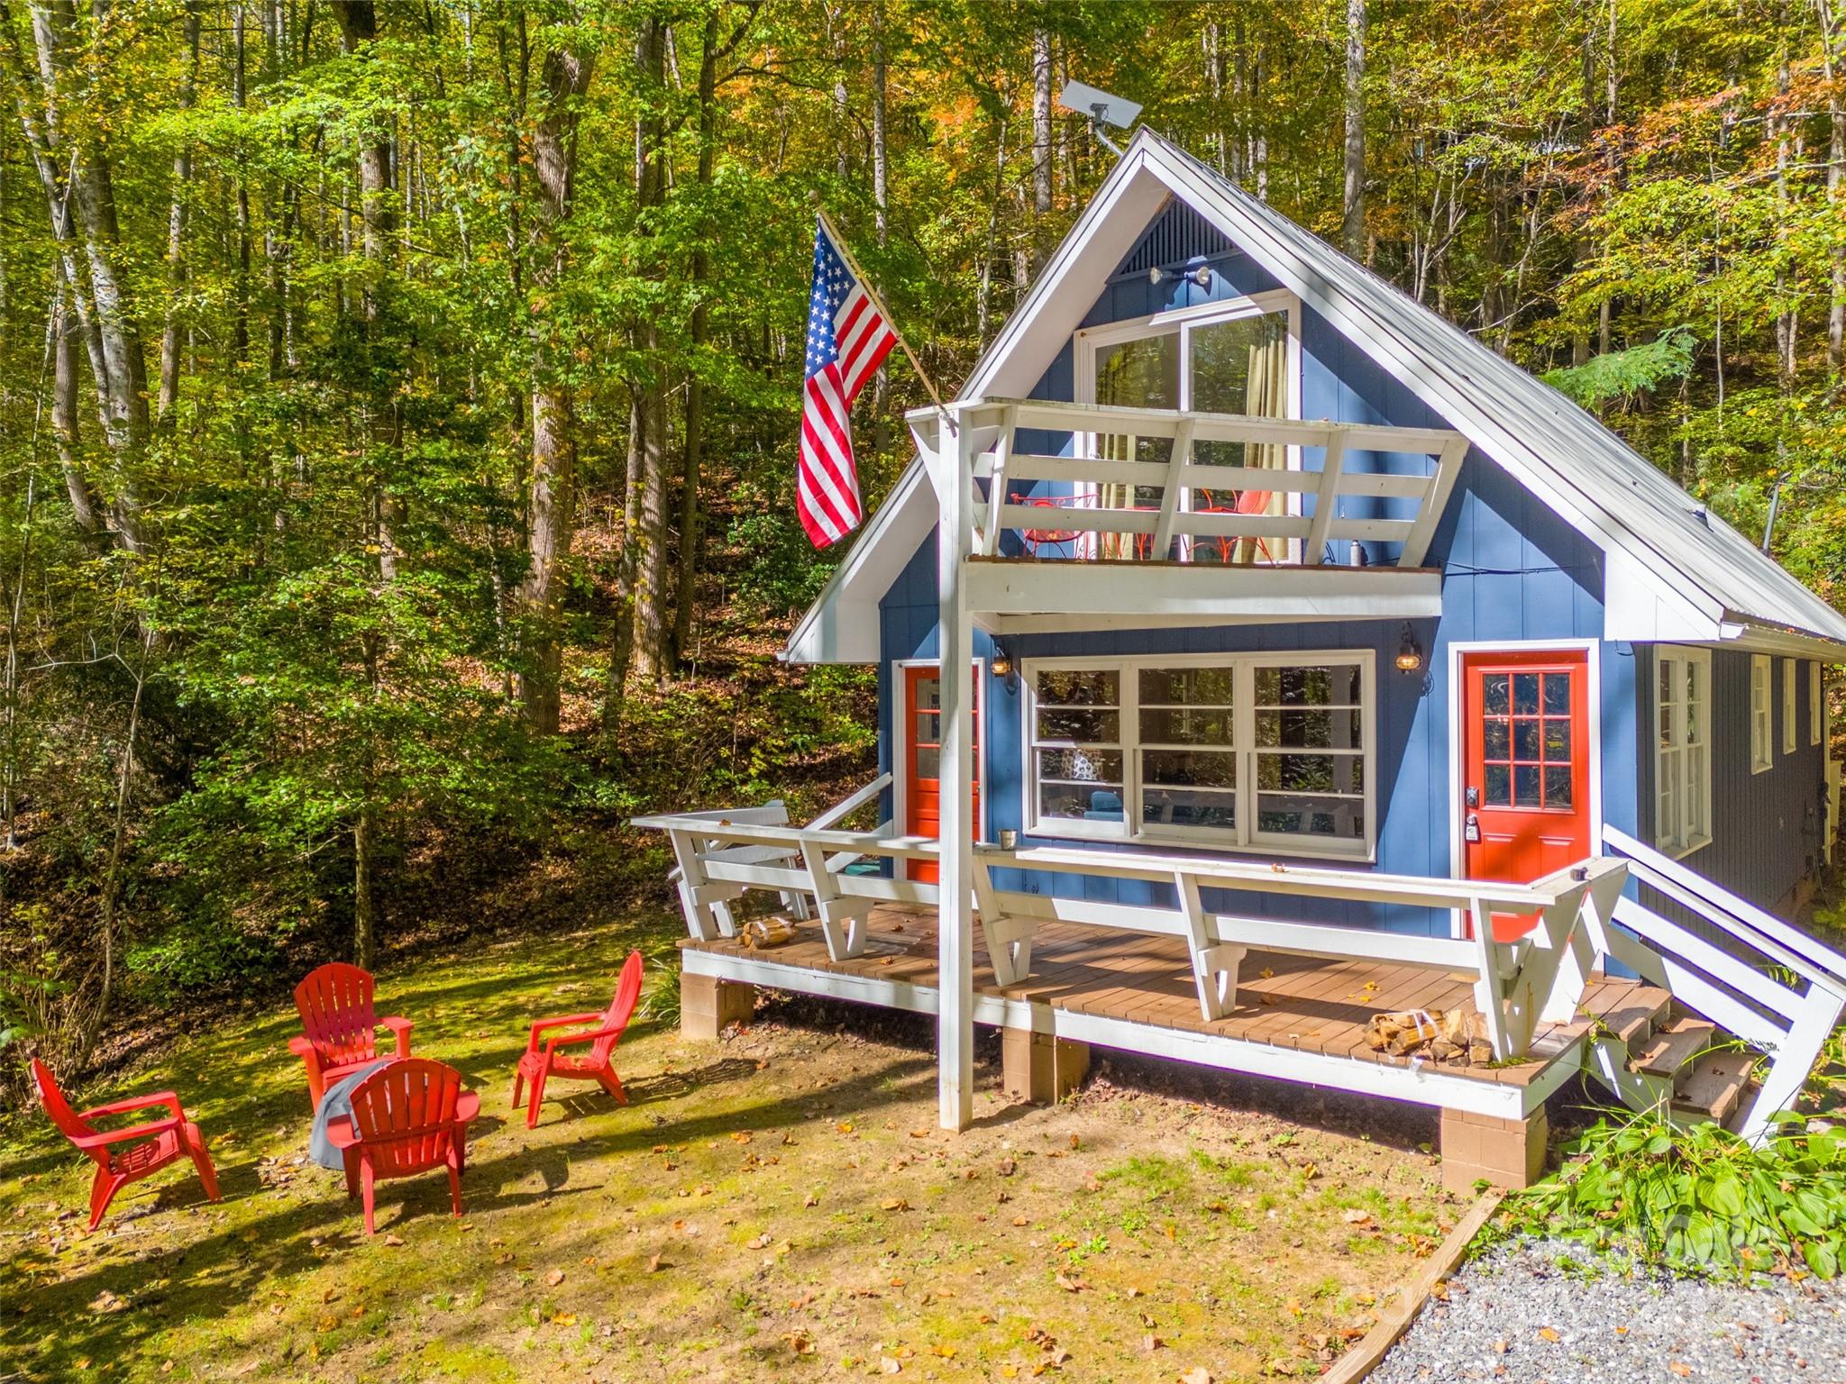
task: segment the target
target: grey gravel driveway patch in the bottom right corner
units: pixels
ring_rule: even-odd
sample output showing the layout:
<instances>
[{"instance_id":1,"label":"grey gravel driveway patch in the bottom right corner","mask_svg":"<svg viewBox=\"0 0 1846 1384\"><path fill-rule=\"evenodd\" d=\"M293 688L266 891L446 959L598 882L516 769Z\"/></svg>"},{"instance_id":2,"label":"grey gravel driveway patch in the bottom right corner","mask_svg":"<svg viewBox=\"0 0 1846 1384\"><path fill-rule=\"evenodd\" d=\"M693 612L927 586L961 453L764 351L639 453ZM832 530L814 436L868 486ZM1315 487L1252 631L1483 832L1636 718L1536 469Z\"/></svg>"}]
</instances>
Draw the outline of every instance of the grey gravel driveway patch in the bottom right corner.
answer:
<instances>
[{"instance_id":1,"label":"grey gravel driveway patch in the bottom right corner","mask_svg":"<svg viewBox=\"0 0 1846 1384\"><path fill-rule=\"evenodd\" d=\"M1558 1268L1565 1246L1501 1246L1462 1268L1368 1384L1846 1384L1846 1286L1763 1288Z\"/></svg>"}]
</instances>

